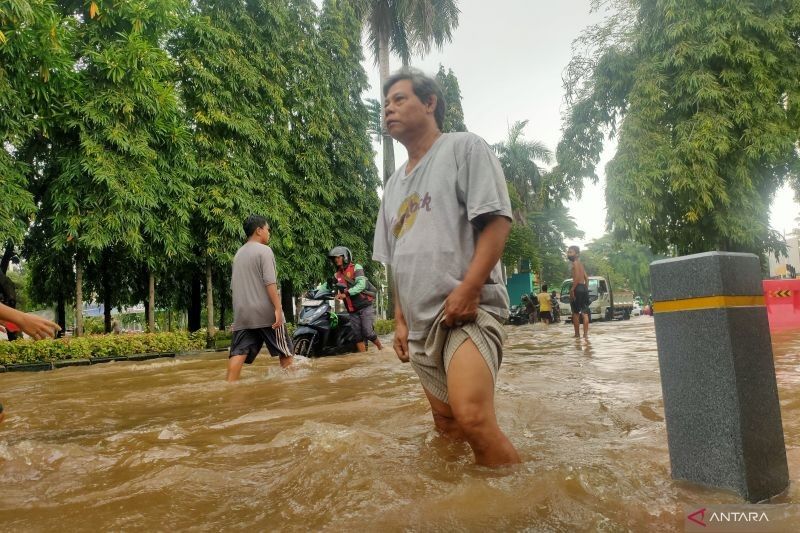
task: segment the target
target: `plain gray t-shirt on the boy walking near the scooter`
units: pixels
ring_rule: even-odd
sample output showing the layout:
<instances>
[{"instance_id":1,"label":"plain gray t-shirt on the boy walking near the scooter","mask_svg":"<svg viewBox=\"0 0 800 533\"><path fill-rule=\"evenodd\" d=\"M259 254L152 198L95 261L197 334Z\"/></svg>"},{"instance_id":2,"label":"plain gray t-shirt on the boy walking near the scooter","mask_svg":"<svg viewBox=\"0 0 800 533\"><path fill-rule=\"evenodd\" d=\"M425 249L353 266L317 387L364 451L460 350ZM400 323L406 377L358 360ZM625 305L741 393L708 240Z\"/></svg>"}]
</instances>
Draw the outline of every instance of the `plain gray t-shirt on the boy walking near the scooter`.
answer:
<instances>
[{"instance_id":1,"label":"plain gray t-shirt on the boy walking near the scooter","mask_svg":"<svg viewBox=\"0 0 800 533\"><path fill-rule=\"evenodd\" d=\"M267 285L278 282L272 248L248 241L233 258L232 331L268 328L275 323L275 307L269 300Z\"/></svg>"}]
</instances>

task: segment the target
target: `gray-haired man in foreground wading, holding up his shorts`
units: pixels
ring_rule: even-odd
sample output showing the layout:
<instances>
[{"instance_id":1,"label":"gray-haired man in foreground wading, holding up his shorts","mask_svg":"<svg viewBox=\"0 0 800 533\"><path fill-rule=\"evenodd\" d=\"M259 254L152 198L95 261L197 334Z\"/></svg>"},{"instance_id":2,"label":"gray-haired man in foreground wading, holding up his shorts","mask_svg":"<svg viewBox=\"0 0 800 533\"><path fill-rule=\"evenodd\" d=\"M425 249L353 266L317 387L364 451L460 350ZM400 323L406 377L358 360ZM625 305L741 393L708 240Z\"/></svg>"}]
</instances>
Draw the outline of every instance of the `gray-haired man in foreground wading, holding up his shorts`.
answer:
<instances>
[{"instance_id":1,"label":"gray-haired man in foreground wading, holding up his shorts","mask_svg":"<svg viewBox=\"0 0 800 533\"><path fill-rule=\"evenodd\" d=\"M386 128L408 150L386 184L373 255L394 274L395 352L419 375L439 431L466 439L477 464L518 463L494 412L508 315L503 171L477 135L442 134L445 102L433 79L403 70L383 95Z\"/></svg>"}]
</instances>

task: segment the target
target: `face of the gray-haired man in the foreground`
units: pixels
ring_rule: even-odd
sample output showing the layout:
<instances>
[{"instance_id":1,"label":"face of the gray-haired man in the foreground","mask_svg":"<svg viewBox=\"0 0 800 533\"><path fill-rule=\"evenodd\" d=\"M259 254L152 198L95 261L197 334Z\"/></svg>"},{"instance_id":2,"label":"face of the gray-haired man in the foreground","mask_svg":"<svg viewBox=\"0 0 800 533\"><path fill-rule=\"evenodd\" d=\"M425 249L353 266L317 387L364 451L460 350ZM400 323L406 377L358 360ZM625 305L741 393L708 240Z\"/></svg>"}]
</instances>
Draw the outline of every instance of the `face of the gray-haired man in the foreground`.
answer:
<instances>
[{"instance_id":1,"label":"face of the gray-haired man in the foreground","mask_svg":"<svg viewBox=\"0 0 800 533\"><path fill-rule=\"evenodd\" d=\"M386 130L400 142L412 139L427 128L436 127L433 111L436 98L424 104L414 94L411 80L400 80L389 88L383 101L383 118Z\"/></svg>"}]
</instances>

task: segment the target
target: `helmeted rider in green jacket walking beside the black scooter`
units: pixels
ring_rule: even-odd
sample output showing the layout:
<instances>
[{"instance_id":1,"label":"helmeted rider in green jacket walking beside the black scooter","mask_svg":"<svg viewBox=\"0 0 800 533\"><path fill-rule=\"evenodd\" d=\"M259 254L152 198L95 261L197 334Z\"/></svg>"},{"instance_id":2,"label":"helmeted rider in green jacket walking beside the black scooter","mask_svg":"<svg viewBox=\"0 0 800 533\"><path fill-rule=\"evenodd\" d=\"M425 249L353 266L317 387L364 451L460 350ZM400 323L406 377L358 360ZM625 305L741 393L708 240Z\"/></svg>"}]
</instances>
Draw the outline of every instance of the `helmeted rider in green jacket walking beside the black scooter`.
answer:
<instances>
[{"instance_id":1,"label":"helmeted rider in green jacket walking beside the black scooter","mask_svg":"<svg viewBox=\"0 0 800 533\"><path fill-rule=\"evenodd\" d=\"M353 263L353 254L345 246L336 246L328 252L328 259L336 268L336 283L346 289L336 295L337 300L344 301L350 314L350 327L356 338L356 349L367 351L367 342L382 350L383 346L375 333L375 301L376 289L364 275L364 267Z\"/></svg>"}]
</instances>

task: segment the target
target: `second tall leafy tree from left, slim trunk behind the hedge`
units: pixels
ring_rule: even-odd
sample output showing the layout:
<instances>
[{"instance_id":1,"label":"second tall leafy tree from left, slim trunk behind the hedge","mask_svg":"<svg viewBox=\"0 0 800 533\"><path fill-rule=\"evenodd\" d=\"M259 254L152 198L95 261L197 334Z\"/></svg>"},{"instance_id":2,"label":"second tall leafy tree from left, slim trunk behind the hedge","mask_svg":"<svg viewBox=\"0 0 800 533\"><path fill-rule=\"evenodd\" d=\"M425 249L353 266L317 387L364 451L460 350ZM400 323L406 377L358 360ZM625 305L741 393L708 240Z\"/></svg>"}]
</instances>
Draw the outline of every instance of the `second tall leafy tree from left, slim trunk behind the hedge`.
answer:
<instances>
[{"instance_id":1,"label":"second tall leafy tree from left, slim trunk behind the hedge","mask_svg":"<svg viewBox=\"0 0 800 533\"><path fill-rule=\"evenodd\" d=\"M51 245L75 255L76 305L84 268L108 247L133 257L177 253L186 238L186 137L162 48L183 0L65 2L81 21L76 83L63 95L42 197ZM169 224L170 231L163 231ZM152 253L157 249L158 253ZM79 309L80 310L80 309ZM77 334L81 333L78 312Z\"/></svg>"}]
</instances>

